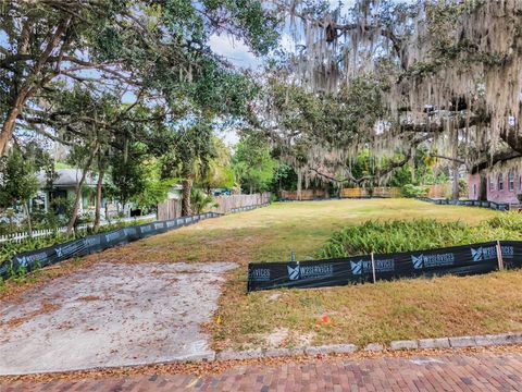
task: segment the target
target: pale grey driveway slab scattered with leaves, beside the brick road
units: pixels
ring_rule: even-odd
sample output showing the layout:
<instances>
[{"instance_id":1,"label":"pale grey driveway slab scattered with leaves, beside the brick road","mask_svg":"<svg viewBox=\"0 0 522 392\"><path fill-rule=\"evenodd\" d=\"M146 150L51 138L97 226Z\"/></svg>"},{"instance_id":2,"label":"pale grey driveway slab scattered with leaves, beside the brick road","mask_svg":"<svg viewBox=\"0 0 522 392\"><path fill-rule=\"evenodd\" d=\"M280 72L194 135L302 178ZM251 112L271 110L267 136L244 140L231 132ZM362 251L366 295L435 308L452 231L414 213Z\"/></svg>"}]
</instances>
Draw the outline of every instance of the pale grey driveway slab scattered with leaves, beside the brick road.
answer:
<instances>
[{"instance_id":1,"label":"pale grey driveway slab scattered with leaves, beside the brick road","mask_svg":"<svg viewBox=\"0 0 522 392\"><path fill-rule=\"evenodd\" d=\"M197 359L231 262L99 264L0 304L0 375ZM22 299L22 301L20 301Z\"/></svg>"}]
</instances>

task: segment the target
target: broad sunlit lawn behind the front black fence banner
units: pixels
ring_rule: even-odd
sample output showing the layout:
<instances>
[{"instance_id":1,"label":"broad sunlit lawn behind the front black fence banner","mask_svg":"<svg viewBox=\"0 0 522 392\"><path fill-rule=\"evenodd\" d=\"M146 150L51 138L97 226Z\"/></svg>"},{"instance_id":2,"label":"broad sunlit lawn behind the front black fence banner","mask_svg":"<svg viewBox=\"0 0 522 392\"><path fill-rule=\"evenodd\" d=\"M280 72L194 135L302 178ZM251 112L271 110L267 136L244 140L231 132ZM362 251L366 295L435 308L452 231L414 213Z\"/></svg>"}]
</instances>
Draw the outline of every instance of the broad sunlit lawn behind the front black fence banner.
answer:
<instances>
[{"instance_id":1,"label":"broad sunlit lawn behind the front black fence banner","mask_svg":"<svg viewBox=\"0 0 522 392\"><path fill-rule=\"evenodd\" d=\"M108 257L127 261L275 261L288 260L290 249L311 259L324 242L347 224L371 219L435 218L472 224L494 217L484 208L435 206L411 199L363 199L276 203L270 207L211 219L140 241Z\"/></svg>"}]
</instances>

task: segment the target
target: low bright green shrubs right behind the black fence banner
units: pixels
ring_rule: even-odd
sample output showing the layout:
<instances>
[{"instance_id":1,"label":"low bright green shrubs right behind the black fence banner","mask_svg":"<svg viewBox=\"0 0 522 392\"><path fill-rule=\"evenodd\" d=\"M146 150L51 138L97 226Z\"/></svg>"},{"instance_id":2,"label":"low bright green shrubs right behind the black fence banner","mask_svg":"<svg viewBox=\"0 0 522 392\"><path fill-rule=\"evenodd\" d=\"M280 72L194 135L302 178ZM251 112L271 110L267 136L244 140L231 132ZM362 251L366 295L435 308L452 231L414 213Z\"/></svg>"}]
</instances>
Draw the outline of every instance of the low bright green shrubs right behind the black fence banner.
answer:
<instances>
[{"instance_id":1,"label":"low bright green shrubs right behind the black fence banner","mask_svg":"<svg viewBox=\"0 0 522 392\"><path fill-rule=\"evenodd\" d=\"M366 221L335 232L319 257L412 252L497 240L521 241L522 215L506 212L477 226L434 219Z\"/></svg>"}]
</instances>

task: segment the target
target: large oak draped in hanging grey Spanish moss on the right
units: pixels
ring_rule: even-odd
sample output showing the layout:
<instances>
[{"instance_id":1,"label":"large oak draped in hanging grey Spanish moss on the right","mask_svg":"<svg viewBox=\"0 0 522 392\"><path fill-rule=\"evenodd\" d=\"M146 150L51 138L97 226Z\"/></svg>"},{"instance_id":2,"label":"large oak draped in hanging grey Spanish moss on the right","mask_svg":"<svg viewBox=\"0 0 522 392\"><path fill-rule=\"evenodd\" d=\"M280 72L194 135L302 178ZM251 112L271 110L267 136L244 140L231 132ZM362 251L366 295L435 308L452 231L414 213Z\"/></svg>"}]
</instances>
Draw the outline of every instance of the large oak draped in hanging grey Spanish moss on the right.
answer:
<instances>
[{"instance_id":1,"label":"large oak draped in hanging grey Spanish moss on the right","mask_svg":"<svg viewBox=\"0 0 522 392\"><path fill-rule=\"evenodd\" d=\"M391 170L411 162L411 152L423 145L437 145L437 155L453 162L455 172L462 164L478 171L521 157L519 2L506 2L501 15L490 1L356 0L349 11L341 3L278 3L298 44L277 66L285 84L321 98L339 96L344 88L357 90L361 78L373 78L380 107L386 108L372 110L353 97L356 107L348 103L347 108L360 106L370 113L353 111L362 122L348 118L359 124L356 133L350 132L353 127L339 127L338 140L328 132L324 137L318 133L316 140L306 137L308 146L320 146L309 148L306 164L300 164L311 175L352 181L345 157L336 150L371 148L390 157L399 152L403 159L390 159ZM293 95L287 97L295 105ZM294 128L287 123L276 126L277 136L286 131L283 143L295 146L301 134L312 133L308 124L316 124L315 118L306 111L294 115L277 106L294 122L306 122ZM380 113L372 119L373 112ZM333 122L343 121L333 114ZM349 143L345 143L347 137L351 137ZM324 148L330 140L336 149ZM335 159L321 159L327 155ZM374 173L376 177L383 174L389 171ZM456 197L457 182L453 185Z\"/></svg>"}]
</instances>

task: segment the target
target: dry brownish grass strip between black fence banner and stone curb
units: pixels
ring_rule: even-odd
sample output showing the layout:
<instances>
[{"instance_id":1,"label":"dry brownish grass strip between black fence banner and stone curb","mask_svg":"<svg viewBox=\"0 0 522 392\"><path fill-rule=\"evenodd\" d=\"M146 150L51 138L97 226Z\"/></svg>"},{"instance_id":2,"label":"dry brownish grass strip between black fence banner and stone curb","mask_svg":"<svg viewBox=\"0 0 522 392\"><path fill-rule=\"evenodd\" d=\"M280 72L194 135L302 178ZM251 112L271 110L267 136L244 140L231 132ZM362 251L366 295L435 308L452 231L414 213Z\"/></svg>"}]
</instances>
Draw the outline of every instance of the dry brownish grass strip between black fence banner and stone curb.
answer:
<instances>
[{"instance_id":1,"label":"dry brownish grass strip between black fence banner and stone curb","mask_svg":"<svg viewBox=\"0 0 522 392\"><path fill-rule=\"evenodd\" d=\"M522 271L443 277L318 290L245 294L236 271L222 296L220 324L209 328L215 348L389 343L522 330ZM281 295L275 295L281 294Z\"/></svg>"}]
</instances>

